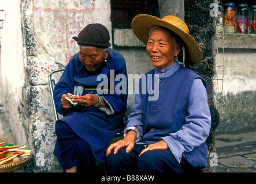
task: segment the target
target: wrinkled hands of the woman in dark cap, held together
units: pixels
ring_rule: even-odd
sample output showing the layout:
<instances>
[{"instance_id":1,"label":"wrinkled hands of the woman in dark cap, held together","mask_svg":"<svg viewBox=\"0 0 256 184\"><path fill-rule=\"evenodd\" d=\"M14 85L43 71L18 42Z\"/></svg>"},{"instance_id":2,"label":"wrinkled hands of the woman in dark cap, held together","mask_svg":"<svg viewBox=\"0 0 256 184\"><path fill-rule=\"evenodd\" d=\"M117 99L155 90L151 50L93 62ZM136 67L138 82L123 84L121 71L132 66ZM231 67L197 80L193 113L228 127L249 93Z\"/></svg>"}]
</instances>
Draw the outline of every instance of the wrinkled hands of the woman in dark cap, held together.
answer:
<instances>
[{"instance_id":1,"label":"wrinkled hands of the woman in dark cap, held together","mask_svg":"<svg viewBox=\"0 0 256 184\"><path fill-rule=\"evenodd\" d=\"M99 99L95 94L86 94L82 96L77 96L77 95L72 95L68 93L68 94L63 94L61 96L61 105L62 105L62 108L64 109L72 108L71 102L69 102L68 99L66 99L66 97L71 98L73 102L77 102L80 105L85 106L86 108L89 106L97 106L99 104Z\"/></svg>"}]
</instances>

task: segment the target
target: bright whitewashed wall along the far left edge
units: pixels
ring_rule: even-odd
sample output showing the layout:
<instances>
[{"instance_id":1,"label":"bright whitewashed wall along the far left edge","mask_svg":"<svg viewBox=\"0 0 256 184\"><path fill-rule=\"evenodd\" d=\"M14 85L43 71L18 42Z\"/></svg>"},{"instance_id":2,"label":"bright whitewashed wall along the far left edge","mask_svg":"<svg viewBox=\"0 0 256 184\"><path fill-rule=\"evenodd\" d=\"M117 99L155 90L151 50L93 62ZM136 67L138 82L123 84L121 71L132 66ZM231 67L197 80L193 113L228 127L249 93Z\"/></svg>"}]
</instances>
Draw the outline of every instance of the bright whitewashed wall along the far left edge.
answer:
<instances>
[{"instance_id":1,"label":"bright whitewashed wall along the far left edge","mask_svg":"<svg viewBox=\"0 0 256 184\"><path fill-rule=\"evenodd\" d=\"M1 103L18 138L28 145L27 125L23 124L24 53L21 32L20 1L0 1L0 17L3 20L1 36Z\"/></svg>"}]
</instances>

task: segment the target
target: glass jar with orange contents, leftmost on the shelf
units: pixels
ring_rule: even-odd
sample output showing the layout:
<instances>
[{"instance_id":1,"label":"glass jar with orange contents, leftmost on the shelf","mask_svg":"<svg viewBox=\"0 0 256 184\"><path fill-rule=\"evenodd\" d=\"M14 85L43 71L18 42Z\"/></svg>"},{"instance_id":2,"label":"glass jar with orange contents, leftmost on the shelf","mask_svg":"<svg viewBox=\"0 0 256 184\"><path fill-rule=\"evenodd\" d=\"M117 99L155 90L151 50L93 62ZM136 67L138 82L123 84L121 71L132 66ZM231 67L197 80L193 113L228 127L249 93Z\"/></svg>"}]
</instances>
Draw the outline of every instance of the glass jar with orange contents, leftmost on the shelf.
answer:
<instances>
[{"instance_id":1,"label":"glass jar with orange contents, leftmost on the shelf","mask_svg":"<svg viewBox=\"0 0 256 184\"><path fill-rule=\"evenodd\" d=\"M224 32L235 33L236 32L236 6L233 2L227 2L224 4Z\"/></svg>"}]
</instances>

